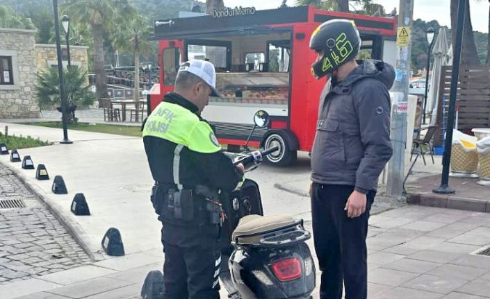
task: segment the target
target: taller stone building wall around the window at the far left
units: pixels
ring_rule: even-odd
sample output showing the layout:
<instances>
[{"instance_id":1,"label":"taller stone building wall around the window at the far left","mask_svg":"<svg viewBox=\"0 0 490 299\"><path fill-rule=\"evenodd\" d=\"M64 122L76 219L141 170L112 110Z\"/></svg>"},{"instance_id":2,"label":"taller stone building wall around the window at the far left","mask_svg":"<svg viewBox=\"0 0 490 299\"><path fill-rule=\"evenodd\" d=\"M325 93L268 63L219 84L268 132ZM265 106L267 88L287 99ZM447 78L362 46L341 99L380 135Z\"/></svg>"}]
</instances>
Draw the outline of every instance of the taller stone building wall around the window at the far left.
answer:
<instances>
[{"instance_id":1,"label":"taller stone building wall around the window at the far left","mask_svg":"<svg viewBox=\"0 0 490 299\"><path fill-rule=\"evenodd\" d=\"M12 58L13 85L0 85L0 119L38 118L35 31L0 28L0 56Z\"/></svg>"}]
</instances>

